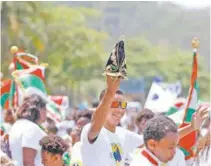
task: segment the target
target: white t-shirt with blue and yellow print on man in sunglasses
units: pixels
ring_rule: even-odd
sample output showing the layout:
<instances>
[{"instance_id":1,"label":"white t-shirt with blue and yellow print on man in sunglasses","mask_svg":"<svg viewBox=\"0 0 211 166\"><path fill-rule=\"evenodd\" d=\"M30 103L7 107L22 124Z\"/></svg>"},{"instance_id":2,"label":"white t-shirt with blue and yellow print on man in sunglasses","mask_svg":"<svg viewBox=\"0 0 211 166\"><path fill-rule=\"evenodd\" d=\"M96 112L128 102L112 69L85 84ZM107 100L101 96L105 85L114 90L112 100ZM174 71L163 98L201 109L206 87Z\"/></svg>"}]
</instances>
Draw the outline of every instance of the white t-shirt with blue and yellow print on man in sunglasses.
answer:
<instances>
[{"instance_id":1,"label":"white t-shirt with blue and yellow print on man in sunglasses","mask_svg":"<svg viewBox=\"0 0 211 166\"><path fill-rule=\"evenodd\" d=\"M143 136L121 127L115 133L102 128L94 143L88 141L87 124L81 134L83 166L123 166L125 157L143 144Z\"/></svg>"}]
</instances>

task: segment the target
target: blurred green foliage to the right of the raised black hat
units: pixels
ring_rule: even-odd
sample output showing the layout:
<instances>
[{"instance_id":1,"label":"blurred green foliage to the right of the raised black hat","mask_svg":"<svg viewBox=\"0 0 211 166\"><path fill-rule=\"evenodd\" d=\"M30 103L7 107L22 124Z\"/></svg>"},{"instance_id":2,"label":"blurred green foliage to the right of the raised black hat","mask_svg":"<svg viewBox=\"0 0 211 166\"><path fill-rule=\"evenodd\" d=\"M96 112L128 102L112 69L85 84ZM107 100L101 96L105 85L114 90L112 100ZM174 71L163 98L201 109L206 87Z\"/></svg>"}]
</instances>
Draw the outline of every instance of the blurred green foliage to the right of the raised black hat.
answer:
<instances>
[{"instance_id":1,"label":"blurred green foliage to the right of the raised black hat","mask_svg":"<svg viewBox=\"0 0 211 166\"><path fill-rule=\"evenodd\" d=\"M191 46L190 51L182 51L166 45L154 46L140 37L128 40L126 50L129 76L140 78L160 75L166 82L172 83L180 80L184 90L183 95L187 96L193 59ZM208 100L210 97L209 73L205 70L204 59L200 54L198 61L200 97Z\"/></svg>"}]
</instances>

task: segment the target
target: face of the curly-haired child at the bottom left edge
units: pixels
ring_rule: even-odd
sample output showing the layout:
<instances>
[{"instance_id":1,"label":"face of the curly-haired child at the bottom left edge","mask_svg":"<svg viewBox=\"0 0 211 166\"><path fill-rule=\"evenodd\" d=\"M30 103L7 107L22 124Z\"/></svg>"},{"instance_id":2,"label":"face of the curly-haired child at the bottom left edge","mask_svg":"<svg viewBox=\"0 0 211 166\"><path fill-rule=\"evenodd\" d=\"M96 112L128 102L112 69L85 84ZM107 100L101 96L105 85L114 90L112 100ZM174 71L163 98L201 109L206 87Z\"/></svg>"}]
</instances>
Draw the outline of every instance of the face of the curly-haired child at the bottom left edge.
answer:
<instances>
[{"instance_id":1,"label":"face of the curly-haired child at the bottom left edge","mask_svg":"<svg viewBox=\"0 0 211 166\"><path fill-rule=\"evenodd\" d=\"M52 154L48 151L42 151L42 164L44 166L62 166L62 156L60 154Z\"/></svg>"}]
</instances>

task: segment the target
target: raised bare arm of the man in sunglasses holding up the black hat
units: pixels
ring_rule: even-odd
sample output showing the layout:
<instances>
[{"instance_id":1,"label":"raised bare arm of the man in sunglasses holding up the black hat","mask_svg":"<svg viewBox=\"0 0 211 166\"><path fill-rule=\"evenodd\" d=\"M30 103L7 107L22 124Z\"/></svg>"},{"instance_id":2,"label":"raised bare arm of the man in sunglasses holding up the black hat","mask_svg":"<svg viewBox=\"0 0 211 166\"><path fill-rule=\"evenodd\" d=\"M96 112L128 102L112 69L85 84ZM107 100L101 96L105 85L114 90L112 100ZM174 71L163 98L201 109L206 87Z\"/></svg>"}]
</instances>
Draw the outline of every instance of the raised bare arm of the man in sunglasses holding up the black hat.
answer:
<instances>
[{"instance_id":1,"label":"raised bare arm of the man in sunglasses holding up the black hat","mask_svg":"<svg viewBox=\"0 0 211 166\"><path fill-rule=\"evenodd\" d=\"M106 118L109 113L109 109L111 107L112 100L116 91L119 88L120 79L112 78L107 76L107 89L102 98L99 106L93 114L93 118L91 121L91 127L88 131L88 140L90 143L97 138L100 130L102 129Z\"/></svg>"}]
</instances>

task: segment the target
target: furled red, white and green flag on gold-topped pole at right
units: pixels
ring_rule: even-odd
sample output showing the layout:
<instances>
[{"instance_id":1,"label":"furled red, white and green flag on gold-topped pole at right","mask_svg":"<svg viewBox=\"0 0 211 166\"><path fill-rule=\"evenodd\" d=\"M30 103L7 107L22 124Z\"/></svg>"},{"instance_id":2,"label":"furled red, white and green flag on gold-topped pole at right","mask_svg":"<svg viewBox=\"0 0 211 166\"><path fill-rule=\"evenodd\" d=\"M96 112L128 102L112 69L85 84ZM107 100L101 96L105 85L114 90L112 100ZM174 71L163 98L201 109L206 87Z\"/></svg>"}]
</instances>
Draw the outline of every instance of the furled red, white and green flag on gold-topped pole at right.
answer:
<instances>
[{"instance_id":1,"label":"furled red, white and green flag on gold-topped pole at right","mask_svg":"<svg viewBox=\"0 0 211 166\"><path fill-rule=\"evenodd\" d=\"M191 82L190 82L190 89L189 95L187 98L186 106L185 106L185 113L183 117L183 122L180 125L180 128L189 125L192 121L192 116L196 112L198 108L198 93L199 93L199 86L197 83L197 75L198 75L198 61L197 61L197 39L194 39L193 42L193 64L192 64L192 75L191 75ZM194 46L195 45L195 46ZM181 150L185 154L185 159L191 159L194 157L194 146L196 144L196 137L197 132L193 131L190 134L186 135L179 141L179 146Z\"/></svg>"}]
</instances>

